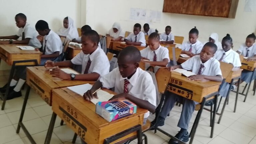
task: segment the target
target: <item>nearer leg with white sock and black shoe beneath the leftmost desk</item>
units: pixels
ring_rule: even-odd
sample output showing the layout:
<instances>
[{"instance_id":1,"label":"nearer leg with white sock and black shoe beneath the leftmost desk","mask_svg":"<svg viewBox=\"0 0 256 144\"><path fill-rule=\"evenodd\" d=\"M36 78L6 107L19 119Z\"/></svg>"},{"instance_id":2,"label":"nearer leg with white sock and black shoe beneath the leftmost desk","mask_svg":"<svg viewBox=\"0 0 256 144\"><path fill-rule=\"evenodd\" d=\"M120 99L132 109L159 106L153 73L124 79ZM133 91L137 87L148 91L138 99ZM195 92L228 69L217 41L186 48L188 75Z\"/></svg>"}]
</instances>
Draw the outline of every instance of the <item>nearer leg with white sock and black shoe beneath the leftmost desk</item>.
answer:
<instances>
[{"instance_id":1,"label":"nearer leg with white sock and black shoe beneath the leftmost desk","mask_svg":"<svg viewBox=\"0 0 256 144\"><path fill-rule=\"evenodd\" d=\"M16 86L13 88L13 90L9 91L7 100L20 97L22 95L20 90L23 84L26 82L26 67L23 66L23 67L17 68L17 72L14 78L18 79L18 82Z\"/></svg>"}]
</instances>

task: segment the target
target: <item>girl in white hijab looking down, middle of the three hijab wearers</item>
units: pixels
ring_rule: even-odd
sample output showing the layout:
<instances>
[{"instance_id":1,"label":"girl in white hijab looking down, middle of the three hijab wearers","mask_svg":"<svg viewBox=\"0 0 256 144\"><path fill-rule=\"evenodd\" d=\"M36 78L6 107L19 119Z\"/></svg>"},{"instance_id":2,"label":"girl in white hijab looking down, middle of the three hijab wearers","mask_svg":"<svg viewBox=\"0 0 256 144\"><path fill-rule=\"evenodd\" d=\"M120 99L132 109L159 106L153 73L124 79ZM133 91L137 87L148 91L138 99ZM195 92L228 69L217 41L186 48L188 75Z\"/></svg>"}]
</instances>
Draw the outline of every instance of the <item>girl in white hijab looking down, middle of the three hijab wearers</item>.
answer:
<instances>
[{"instance_id":1,"label":"girl in white hijab looking down, middle of the three hijab wearers","mask_svg":"<svg viewBox=\"0 0 256 144\"><path fill-rule=\"evenodd\" d=\"M124 40L124 32L118 22L115 22L112 28L107 32L107 36L111 37L111 41Z\"/></svg>"}]
</instances>

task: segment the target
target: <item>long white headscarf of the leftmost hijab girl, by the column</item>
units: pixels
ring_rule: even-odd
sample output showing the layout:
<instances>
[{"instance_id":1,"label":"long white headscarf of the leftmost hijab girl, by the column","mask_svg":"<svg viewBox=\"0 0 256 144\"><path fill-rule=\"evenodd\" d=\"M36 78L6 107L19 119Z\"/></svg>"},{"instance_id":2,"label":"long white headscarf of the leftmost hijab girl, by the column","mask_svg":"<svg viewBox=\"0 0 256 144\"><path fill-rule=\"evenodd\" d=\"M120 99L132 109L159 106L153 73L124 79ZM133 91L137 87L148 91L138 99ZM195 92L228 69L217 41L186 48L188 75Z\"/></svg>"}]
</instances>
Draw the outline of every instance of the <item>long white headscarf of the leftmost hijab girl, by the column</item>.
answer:
<instances>
[{"instance_id":1,"label":"long white headscarf of the leftmost hijab girl, by the column","mask_svg":"<svg viewBox=\"0 0 256 144\"><path fill-rule=\"evenodd\" d=\"M58 32L58 35L66 36L67 39L72 40L74 38L78 38L78 31L74 26L74 21L72 18L68 16L68 28L62 27Z\"/></svg>"}]
</instances>

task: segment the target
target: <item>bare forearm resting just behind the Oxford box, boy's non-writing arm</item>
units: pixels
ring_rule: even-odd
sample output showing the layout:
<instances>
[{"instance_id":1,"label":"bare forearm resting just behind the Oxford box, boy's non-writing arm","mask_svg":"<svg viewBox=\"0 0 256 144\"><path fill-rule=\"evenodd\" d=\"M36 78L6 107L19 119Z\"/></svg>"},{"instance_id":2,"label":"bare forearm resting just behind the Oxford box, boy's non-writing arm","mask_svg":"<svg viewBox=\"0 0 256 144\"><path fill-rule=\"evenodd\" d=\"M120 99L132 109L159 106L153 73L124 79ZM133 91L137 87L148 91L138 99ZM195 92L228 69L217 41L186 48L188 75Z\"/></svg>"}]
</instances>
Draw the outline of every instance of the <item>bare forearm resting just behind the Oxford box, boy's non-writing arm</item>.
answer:
<instances>
[{"instance_id":1,"label":"bare forearm resting just behind the Oxford box, boy's non-writing arm","mask_svg":"<svg viewBox=\"0 0 256 144\"><path fill-rule=\"evenodd\" d=\"M134 97L128 93L120 93L118 95L113 96L110 100L115 101L115 100L124 100L124 99L130 100L131 102L135 103L137 106L147 109L148 111L150 111L152 113L155 112L156 107L154 105L152 105L151 103L149 103L146 100L139 99L139 98Z\"/></svg>"}]
</instances>

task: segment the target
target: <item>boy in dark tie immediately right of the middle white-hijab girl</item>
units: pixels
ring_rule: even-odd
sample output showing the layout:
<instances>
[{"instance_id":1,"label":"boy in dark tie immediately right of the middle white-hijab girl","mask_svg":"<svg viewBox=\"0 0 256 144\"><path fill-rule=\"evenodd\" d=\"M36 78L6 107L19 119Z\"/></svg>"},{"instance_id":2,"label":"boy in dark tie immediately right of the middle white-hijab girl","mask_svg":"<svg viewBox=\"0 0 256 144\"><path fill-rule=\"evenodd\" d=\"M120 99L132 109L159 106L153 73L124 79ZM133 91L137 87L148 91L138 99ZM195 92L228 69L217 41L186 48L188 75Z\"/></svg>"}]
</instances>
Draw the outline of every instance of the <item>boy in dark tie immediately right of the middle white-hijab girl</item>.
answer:
<instances>
[{"instance_id":1,"label":"boy in dark tie immediately right of the middle white-hijab girl","mask_svg":"<svg viewBox=\"0 0 256 144\"><path fill-rule=\"evenodd\" d=\"M136 23L133 27L133 33L130 33L124 41L128 45L146 46L145 35L141 32L141 25Z\"/></svg>"}]
</instances>

